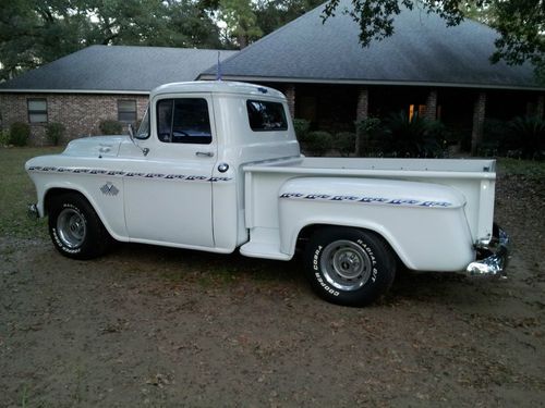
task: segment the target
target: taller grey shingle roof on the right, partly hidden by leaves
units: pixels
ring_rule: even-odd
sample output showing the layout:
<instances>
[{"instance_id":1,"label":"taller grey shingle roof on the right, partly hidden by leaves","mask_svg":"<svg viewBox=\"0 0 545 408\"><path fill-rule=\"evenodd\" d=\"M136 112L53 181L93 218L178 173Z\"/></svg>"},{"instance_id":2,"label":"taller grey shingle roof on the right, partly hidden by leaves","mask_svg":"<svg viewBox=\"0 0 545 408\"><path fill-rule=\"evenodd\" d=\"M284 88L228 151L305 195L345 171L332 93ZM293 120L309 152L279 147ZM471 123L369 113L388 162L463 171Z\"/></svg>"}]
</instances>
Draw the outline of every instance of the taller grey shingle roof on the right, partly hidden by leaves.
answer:
<instances>
[{"instance_id":1,"label":"taller grey shingle roof on the right, partly hidden by leaves","mask_svg":"<svg viewBox=\"0 0 545 408\"><path fill-rule=\"evenodd\" d=\"M491 64L497 33L465 20L447 27L417 3L395 17L395 34L368 48L359 44L359 25L342 13L322 23L324 5L262 38L221 63L223 78L237 81L360 84L434 83L493 88L538 87L530 64ZM209 78L213 70L201 78ZM543 88L543 87L542 87Z\"/></svg>"}]
</instances>

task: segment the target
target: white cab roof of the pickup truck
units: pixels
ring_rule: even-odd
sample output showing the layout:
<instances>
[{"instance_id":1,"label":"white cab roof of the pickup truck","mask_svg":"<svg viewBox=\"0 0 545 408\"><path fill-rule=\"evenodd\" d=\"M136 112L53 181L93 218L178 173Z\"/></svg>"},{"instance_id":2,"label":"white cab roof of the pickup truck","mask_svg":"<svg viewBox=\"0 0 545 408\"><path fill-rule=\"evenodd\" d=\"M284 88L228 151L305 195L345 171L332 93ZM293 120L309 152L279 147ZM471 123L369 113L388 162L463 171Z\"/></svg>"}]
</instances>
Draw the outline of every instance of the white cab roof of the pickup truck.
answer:
<instances>
[{"instance_id":1,"label":"white cab roof of the pickup truck","mask_svg":"<svg viewBox=\"0 0 545 408\"><path fill-rule=\"evenodd\" d=\"M150 97L153 98L156 95L173 92L238 94L286 99L282 92L267 86L223 81L194 81L165 84L152 90Z\"/></svg>"}]
</instances>

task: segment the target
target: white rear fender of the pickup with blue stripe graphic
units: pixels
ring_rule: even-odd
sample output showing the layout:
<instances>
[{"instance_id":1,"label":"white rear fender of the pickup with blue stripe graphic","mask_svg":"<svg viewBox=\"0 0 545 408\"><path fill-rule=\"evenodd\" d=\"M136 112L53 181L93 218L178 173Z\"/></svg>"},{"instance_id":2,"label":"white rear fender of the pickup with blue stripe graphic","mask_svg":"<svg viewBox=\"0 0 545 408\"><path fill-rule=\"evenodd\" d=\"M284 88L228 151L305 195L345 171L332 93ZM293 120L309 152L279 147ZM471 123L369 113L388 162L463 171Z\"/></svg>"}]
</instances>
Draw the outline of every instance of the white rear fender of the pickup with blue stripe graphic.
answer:
<instances>
[{"instance_id":1,"label":"white rear fender of the pickup with blue stripe graphic","mask_svg":"<svg viewBox=\"0 0 545 408\"><path fill-rule=\"evenodd\" d=\"M294 252L310 225L342 225L383 236L413 270L460 271L474 259L458 190L432 183L373 178L290 180L279 191L280 250Z\"/></svg>"}]
</instances>

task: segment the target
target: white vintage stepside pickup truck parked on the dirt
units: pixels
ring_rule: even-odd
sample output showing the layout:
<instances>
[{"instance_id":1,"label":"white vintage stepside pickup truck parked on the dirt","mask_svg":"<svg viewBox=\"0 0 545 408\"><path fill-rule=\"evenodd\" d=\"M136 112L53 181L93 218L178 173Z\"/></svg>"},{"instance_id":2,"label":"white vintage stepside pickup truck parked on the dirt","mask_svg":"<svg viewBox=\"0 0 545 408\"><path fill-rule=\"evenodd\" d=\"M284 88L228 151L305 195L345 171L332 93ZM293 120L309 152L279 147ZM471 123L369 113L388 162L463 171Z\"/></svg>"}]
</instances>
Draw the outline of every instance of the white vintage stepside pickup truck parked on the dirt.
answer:
<instances>
[{"instance_id":1,"label":"white vintage stepside pickup truck parked on the dirt","mask_svg":"<svg viewBox=\"0 0 545 408\"><path fill-rule=\"evenodd\" d=\"M494 160L305 158L281 92L228 82L158 87L130 133L26 163L29 212L62 255L111 239L282 261L300 248L316 293L356 306L400 264L504 274Z\"/></svg>"}]
</instances>

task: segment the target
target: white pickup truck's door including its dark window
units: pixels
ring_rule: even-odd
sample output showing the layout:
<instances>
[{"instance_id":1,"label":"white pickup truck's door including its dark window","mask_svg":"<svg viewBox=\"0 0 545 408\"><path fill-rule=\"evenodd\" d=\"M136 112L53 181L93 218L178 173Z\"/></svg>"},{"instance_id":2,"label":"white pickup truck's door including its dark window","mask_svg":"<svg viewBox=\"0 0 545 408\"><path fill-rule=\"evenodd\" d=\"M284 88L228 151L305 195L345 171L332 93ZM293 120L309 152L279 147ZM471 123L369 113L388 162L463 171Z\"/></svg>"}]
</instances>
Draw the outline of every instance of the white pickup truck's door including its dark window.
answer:
<instances>
[{"instance_id":1,"label":"white pickup truck's door including its dark window","mask_svg":"<svg viewBox=\"0 0 545 408\"><path fill-rule=\"evenodd\" d=\"M131 240L214 247L211 175L216 163L211 96L166 95L152 101L147 156L124 175Z\"/></svg>"}]
</instances>

